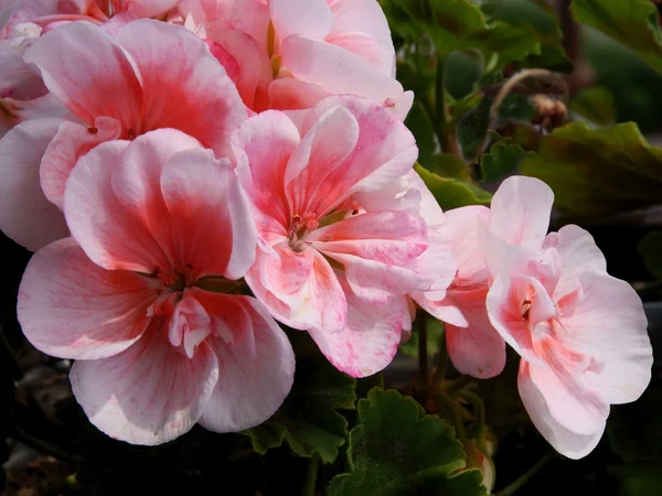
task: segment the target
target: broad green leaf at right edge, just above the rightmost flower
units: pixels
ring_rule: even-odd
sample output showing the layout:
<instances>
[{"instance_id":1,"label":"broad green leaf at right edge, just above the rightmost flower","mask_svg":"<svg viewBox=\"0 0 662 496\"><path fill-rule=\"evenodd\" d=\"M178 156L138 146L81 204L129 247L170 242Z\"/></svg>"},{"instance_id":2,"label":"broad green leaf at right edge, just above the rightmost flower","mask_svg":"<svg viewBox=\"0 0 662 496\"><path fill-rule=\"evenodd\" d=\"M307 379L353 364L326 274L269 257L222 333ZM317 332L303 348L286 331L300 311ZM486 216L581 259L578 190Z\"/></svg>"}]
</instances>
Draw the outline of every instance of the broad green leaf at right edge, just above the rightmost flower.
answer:
<instances>
[{"instance_id":1,"label":"broad green leaf at right edge, just above the rightmost flower","mask_svg":"<svg viewBox=\"0 0 662 496\"><path fill-rule=\"evenodd\" d=\"M558 128L525 157L522 173L545 181L567 215L596 217L662 203L662 149L651 147L633 122Z\"/></svg>"}]
</instances>

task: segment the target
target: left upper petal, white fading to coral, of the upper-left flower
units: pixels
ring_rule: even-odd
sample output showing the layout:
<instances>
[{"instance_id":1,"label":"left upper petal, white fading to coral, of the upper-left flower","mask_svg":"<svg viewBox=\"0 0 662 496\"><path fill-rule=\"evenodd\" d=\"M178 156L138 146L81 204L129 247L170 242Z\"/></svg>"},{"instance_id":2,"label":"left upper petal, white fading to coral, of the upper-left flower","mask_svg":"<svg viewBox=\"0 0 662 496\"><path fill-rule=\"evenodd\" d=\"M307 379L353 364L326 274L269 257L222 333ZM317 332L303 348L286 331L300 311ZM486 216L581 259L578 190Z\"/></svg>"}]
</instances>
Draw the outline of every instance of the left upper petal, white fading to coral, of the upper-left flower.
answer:
<instances>
[{"instance_id":1,"label":"left upper petal, white fading to coral, of the upper-left flower","mask_svg":"<svg viewBox=\"0 0 662 496\"><path fill-rule=\"evenodd\" d=\"M126 52L100 28L71 22L40 37L25 51L44 84L83 121L119 120L128 132L142 108L140 76Z\"/></svg>"}]
</instances>

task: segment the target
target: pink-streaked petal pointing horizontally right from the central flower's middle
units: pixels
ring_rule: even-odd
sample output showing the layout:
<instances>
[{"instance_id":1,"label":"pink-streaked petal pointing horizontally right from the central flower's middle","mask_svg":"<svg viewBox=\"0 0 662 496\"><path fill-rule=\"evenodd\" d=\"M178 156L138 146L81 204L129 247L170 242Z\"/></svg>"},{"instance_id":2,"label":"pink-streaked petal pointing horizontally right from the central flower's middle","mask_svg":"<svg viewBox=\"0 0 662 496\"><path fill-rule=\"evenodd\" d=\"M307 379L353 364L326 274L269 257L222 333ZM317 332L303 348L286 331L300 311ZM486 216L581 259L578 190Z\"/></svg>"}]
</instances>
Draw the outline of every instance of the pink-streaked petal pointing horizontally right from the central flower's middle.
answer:
<instances>
[{"instance_id":1,"label":"pink-streaked petal pointing horizontally right from the central flower's middle","mask_svg":"<svg viewBox=\"0 0 662 496\"><path fill-rule=\"evenodd\" d=\"M406 265L428 248L425 220L397 211L349 217L316 229L306 240L331 258L348 254L386 266Z\"/></svg>"}]
</instances>

